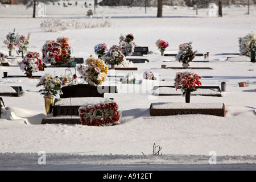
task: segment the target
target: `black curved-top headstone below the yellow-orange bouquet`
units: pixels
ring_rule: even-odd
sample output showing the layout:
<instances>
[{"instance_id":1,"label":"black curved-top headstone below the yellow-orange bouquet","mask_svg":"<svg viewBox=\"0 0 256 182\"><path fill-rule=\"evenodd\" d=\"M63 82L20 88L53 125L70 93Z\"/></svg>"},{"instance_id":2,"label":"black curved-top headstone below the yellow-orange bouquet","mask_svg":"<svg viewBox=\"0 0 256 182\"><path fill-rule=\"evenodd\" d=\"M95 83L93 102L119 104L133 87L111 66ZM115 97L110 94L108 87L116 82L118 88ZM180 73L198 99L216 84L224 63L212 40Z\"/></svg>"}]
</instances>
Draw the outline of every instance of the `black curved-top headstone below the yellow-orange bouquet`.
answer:
<instances>
[{"instance_id":1,"label":"black curved-top headstone below the yellow-orange bouquet","mask_svg":"<svg viewBox=\"0 0 256 182\"><path fill-rule=\"evenodd\" d=\"M60 94L60 98L69 97L104 97L104 92L98 92L98 86L89 84L77 84L63 86L61 88L63 94Z\"/></svg>"}]
</instances>

